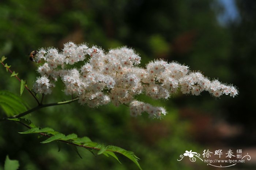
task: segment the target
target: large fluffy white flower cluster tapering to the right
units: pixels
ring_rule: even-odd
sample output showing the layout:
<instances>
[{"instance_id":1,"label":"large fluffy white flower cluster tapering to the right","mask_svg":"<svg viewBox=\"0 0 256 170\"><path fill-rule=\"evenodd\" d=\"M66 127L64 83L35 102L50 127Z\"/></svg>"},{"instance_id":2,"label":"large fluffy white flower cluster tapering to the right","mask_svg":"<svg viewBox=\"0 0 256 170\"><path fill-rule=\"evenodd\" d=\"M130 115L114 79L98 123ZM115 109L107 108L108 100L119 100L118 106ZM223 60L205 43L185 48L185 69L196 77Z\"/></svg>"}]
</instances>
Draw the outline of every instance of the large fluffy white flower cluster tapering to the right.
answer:
<instances>
[{"instance_id":1,"label":"large fluffy white flower cluster tapering to the right","mask_svg":"<svg viewBox=\"0 0 256 170\"><path fill-rule=\"evenodd\" d=\"M49 94L52 86L49 82L61 78L65 93L76 95L82 105L125 104L130 106L131 115L147 112L151 117L160 117L166 111L136 101L136 95L144 93L153 99L167 99L179 88L183 94L192 95L199 95L202 91L215 97L238 94L235 87L218 80L210 81L200 72L189 72L185 65L155 60L142 68L138 67L140 59L139 54L127 47L104 52L97 46L89 48L86 44L68 42L61 52L55 48L40 49L34 60L42 63L37 69L42 77L35 82L34 91ZM67 65L79 61L85 61L80 69L66 69Z\"/></svg>"}]
</instances>

